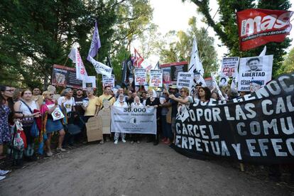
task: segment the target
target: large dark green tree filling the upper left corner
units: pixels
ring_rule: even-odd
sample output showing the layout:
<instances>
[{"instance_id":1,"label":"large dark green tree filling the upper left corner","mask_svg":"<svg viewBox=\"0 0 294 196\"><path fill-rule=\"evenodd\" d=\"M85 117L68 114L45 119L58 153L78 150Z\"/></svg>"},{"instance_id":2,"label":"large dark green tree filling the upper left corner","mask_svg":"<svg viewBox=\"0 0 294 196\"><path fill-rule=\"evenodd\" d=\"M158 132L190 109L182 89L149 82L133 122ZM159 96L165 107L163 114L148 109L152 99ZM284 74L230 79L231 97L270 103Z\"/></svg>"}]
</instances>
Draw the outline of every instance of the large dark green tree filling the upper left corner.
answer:
<instances>
[{"instance_id":1,"label":"large dark green tree filling the upper left corner","mask_svg":"<svg viewBox=\"0 0 294 196\"><path fill-rule=\"evenodd\" d=\"M94 19L99 18L104 58L111 48L109 38L116 21L116 1L1 1L0 65L23 87L40 87L50 81L53 64L63 65L73 42L80 43L80 53L89 72L94 68L85 60L91 42ZM102 55L104 55L104 57ZM67 60L67 66L73 66ZM1 75L0 82L9 77Z\"/></svg>"}]
</instances>

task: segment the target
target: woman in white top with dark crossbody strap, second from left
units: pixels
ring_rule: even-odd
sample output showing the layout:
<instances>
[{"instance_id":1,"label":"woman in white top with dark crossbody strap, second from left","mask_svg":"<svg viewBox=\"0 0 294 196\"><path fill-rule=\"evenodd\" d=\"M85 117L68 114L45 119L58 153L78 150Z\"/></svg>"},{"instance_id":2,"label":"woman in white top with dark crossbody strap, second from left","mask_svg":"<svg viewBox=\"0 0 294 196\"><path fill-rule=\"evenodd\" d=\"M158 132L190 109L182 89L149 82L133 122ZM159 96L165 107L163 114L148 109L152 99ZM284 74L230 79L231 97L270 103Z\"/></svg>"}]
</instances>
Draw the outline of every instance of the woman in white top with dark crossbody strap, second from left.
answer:
<instances>
[{"instance_id":1,"label":"woman in white top with dark crossbody strap, second from left","mask_svg":"<svg viewBox=\"0 0 294 196\"><path fill-rule=\"evenodd\" d=\"M36 159L36 157L33 156L35 138L31 136L31 128L33 126L34 119L40 116L39 106L33 100L32 95L33 94L30 89L24 89L21 92L21 100L14 103L14 111L23 115L21 116L21 124L23 124L23 131L26 135L27 143L27 148L24 151L24 155L28 160Z\"/></svg>"}]
</instances>

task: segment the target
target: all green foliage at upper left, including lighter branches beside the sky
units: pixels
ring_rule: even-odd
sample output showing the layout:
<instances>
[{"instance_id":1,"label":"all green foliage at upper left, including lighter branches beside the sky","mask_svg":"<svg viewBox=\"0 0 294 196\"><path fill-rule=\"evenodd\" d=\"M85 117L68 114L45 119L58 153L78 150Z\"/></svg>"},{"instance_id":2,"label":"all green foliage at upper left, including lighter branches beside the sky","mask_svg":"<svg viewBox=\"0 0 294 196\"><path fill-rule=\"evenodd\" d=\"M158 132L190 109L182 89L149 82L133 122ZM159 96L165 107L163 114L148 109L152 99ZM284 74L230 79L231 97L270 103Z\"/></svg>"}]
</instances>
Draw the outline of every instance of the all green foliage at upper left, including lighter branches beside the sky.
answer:
<instances>
[{"instance_id":1,"label":"all green foliage at upper left, including lighter branches beside the sky","mask_svg":"<svg viewBox=\"0 0 294 196\"><path fill-rule=\"evenodd\" d=\"M102 43L95 59L104 62L110 55L120 82L121 61L151 20L152 9L147 0L4 0L0 16L0 83L42 87L50 82L54 64L75 66L67 59L74 42L80 43L88 75L97 75L86 60L95 19Z\"/></svg>"}]
</instances>

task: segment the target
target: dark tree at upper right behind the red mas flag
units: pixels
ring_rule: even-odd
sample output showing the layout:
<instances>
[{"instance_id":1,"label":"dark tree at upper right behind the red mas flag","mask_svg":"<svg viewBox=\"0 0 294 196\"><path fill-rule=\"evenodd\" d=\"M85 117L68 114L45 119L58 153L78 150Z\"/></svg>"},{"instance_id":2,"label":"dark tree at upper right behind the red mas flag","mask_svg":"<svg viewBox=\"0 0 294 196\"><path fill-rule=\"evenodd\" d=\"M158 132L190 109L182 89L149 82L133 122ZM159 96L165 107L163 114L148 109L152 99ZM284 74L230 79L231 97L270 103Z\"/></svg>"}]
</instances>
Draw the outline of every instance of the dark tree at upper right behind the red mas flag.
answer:
<instances>
[{"instance_id":1,"label":"dark tree at upper right behind the red mas flag","mask_svg":"<svg viewBox=\"0 0 294 196\"><path fill-rule=\"evenodd\" d=\"M183 0L185 1L185 0ZM279 9L290 8L288 0L217 0L219 4L219 22L214 21L209 9L209 0L191 0L198 6L198 11L205 16L205 22L211 26L219 36L222 43L229 49L229 56L250 57L257 56L263 50L263 46L242 52L239 50L238 27L236 24L236 12L244 9ZM273 76L277 76L277 70L281 67L285 49L290 45L290 39L283 43L267 43L267 54L273 54Z\"/></svg>"}]
</instances>

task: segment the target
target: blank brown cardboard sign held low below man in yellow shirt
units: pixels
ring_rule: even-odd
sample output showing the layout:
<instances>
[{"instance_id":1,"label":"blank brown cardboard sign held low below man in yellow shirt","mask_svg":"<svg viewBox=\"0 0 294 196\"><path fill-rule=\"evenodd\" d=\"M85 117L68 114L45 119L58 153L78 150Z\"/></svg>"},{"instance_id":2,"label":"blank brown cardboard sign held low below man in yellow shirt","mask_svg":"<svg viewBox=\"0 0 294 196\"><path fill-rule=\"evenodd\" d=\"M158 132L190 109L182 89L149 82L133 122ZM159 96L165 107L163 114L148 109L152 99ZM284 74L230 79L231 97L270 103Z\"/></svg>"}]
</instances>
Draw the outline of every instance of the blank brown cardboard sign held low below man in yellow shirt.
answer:
<instances>
[{"instance_id":1,"label":"blank brown cardboard sign held low below man in yellow shirt","mask_svg":"<svg viewBox=\"0 0 294 196\"><path fill-rule=\"evenodd\" d=\"M102 118L94 116L89 118L86 123L87 141L99 141L103 139L102 134Z\"/></svg>"}]
</instances>

